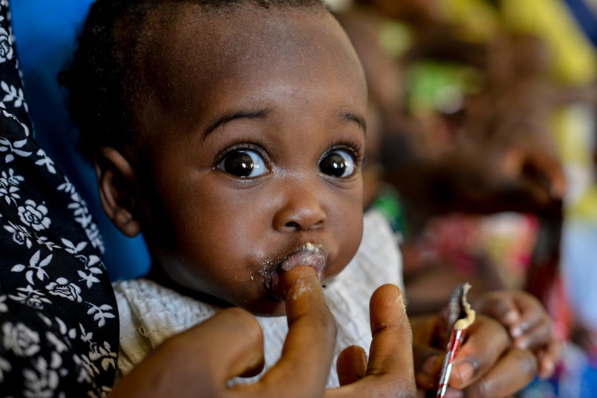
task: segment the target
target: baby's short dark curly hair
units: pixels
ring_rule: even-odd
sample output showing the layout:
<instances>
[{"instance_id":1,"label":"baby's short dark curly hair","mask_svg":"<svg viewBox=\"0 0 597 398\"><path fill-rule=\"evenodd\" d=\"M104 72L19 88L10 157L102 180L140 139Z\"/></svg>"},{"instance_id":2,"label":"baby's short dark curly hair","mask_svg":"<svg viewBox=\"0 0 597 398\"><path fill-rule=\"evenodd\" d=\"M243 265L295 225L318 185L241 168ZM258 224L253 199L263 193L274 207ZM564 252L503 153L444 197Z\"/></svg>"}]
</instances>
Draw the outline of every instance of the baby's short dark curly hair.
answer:
<instances>
[{"instance_id":1,"label":"baby's short dark curly hair","mask_svg":"<svg viewBox=\"0 0 597 398\"><path fill-rule=\"evenodd\" d=\"M199 5L209 13L243 6L258 8L325 7L322 0L97 0L79 36L79 48L59 80L68 91L67 107L79 129L79 148L88 159L97 148L133 145L138 131L134 84L144 23L164 5ZM174 13L173 13L174 14ZM167 15L160 14L167 19Z\"/></svg>"}]
</instances>

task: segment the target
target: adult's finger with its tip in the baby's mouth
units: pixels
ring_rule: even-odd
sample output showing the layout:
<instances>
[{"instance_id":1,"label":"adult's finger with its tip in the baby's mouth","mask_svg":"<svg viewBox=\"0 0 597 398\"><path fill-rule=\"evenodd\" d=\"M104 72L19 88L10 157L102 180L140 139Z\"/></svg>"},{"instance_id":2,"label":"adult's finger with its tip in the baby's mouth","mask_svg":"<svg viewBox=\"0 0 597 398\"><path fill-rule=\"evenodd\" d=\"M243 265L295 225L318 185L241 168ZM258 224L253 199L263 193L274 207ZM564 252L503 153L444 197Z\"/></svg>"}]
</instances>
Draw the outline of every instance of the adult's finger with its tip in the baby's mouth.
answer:
<instances>
[{"instance_id":1,"label":"adult's finger with its tip in the baby's mouth","mask_svg":"<svg viewBox=\"0 0 597 398\"><path fill-rule=\"evenodd\" d=\"M282 356L260 381L246 387L256 389L256 396L290 397L291 391L322 396L336 340L334 317L312 267L291 268L282 273L281 282L288 318Z\"/></svg>"}]
</instances>

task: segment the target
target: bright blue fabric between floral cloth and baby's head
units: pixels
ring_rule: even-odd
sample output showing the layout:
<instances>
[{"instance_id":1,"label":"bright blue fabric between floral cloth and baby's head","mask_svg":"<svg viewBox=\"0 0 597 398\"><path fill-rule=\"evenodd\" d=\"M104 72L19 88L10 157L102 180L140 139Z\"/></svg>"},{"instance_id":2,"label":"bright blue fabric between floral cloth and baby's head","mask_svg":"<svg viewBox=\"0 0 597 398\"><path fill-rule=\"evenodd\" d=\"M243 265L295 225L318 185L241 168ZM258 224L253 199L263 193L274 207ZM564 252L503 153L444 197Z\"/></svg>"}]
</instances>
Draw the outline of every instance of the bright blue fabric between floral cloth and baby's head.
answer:
<instances>
[{"instance_id":1,"label":"bright blue fabric between floral cloth and baby's head","mask_svg":"<svg viewBox=\"0 0 597 398\"><path fill-rule=\"evenodd\" d=\"M101 209L93 167L76 151L76 133L56 78L75 49L91 2L13 0L13 33L36 139L78 187L96 217L104 238L104 263L110 279L127 279L149 269L147 248L141 237L124 237Z\"/></svg>"}]
</instances>

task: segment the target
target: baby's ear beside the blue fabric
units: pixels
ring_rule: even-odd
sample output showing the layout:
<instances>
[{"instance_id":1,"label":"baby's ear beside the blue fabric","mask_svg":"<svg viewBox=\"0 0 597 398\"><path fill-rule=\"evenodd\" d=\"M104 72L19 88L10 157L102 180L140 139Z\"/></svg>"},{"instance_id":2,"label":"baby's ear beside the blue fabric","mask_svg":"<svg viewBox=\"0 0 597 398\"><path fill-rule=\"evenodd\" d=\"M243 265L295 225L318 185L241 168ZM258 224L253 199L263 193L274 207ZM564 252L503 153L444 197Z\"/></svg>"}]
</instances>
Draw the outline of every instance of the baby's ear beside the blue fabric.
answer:
<instances>
[{"instance_id":1,"label":"baby's ear beside the blue fabric","mask_svg":"<svg viewBox=\"0 0 597 398\"><path fill-rule=\"evenodd\" d=\"M135 212L135 171L122 154L112 147L101 147L94 159L100 200L116 228L134 237L141 232Z\"/></svg>"}]
</instances>

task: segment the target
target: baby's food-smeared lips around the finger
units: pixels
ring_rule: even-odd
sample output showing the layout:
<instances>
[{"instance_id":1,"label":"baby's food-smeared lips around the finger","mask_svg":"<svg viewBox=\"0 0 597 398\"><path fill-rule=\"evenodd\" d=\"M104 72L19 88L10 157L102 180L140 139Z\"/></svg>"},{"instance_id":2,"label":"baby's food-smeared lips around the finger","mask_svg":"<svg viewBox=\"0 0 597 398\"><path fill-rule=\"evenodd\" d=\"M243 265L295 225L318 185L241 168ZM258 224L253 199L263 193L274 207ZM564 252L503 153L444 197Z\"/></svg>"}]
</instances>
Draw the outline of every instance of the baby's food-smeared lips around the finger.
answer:
<instances>
[{"instance_id":1,"label":"baby's food-smeared lips around the finger","mask_svg":"<svg viewBox=\"0 0 597 398\"><path fill-rule=\"evenodd\" d=\"M289 269L296 266L304 265L315 268L319 279L321 280L322 272L327 262L325 251L322 245L315 245L310 242L298 247L297 250L284 257L275 269L272 269L270 288L273 295L279 300L284 300L282 293L282 286L280 282L280 275Z\"/></svg>"}]
</instances>

